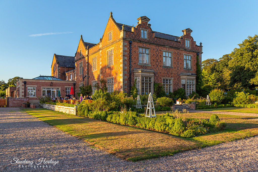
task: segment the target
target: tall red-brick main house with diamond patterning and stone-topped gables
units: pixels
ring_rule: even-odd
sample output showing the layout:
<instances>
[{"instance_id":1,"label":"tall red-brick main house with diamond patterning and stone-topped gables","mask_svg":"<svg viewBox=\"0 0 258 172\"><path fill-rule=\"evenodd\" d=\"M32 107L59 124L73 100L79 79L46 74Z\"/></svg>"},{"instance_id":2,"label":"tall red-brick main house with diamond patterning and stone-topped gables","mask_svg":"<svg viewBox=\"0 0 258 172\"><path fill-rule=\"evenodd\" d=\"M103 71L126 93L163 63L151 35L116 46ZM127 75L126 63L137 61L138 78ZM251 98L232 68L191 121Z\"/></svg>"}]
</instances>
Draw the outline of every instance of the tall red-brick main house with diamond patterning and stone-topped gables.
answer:
<instances>
[{"instance_id":1,"label":"tall red-brick main house with diamond patterning and stone-topped gables","mask_svg":"<svg viewBox=\"0 0 258 172\"><path fill-rule=\"evenodd\" d=\"M146 16L137 20L138 24L135 27L127 26L117 23L110 13L103 36L98 44L86 43L81 36L75 55L76 85L92 85L93 81L99 83L101 78L105 81L114 78L114 91L128 93L130 81L132 86L135 77L139 76L139 89L143 88L143 93L153 92L154 83L163 83L163 79L172 81L172 92L182 87L182 79L185 81L185 89L189 90L188 94L195 91L196 58L199 55L199 64L201 65L202 44L196 45L191 36L192 30L184 29L182 30L183 35L178 37L152 31L151 25L148 23L150 19ZM112 38L110 33L112 33ZM143 38L142 33L146 34ZM139 48L144 48L144 51L148 49L148 62L144 59L145 63L139 63ZM108 64L110 50L113 53L113 64ZM163 52L171 53L170 66L163 65ZM190 60L184 60L184 57L190 58ZM80 63L82 63L83 73L79 71ZM184 65L184 63L187 64ZM151 85L145 85L145 88L142 77L148 77ZM193 84L189 85L187 82ZM141 94L140 90L138 91ZM79 92L78 87L76 92Z\"/></svg>"}]
</instances>

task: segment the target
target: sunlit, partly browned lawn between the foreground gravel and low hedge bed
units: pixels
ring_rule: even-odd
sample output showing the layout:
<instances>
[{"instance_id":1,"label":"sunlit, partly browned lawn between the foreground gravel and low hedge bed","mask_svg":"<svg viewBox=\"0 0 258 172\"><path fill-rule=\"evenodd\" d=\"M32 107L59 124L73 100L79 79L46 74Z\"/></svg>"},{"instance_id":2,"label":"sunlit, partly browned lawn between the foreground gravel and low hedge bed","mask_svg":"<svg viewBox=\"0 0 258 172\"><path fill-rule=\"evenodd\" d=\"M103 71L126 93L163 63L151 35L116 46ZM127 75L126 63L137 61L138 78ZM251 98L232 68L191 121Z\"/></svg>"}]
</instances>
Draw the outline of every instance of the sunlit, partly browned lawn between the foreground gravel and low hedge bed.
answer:
<instances>
[{"instance_id":1,"label":"sunlit, partly browned lawn between the foreground gravel and low hedge bed","mask_svg":"<svg viewBox=\"0 0 258 172\"><path fill-rule=\"evenodd\" d=\"M52 110L24 109L24 111L96 148L130 161L173 155L181 151L258 135L258 117L218 114L222 120L228 122L223 132L184 139L165 133L112 124ZM211 116L207 113L181 115L203 119L208 119Z\"/></svg>"}]
</instances>

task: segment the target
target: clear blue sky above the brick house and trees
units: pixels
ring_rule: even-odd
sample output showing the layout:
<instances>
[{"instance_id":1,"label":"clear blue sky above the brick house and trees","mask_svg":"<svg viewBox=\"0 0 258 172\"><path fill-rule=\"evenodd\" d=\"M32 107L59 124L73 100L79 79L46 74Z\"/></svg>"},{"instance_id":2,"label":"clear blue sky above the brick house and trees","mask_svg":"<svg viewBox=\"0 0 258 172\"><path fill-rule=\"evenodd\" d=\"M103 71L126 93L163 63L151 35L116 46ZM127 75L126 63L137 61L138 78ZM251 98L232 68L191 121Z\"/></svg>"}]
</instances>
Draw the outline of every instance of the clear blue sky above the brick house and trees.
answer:
<instances>
[{"instance_id":1,"label":"clear blue sky above the brick house and trees","mask_svg":"<svg viewBox=\"0 0 258 172\"><path fill-rule=\"evenodd\" d=\"M80 35L98 43L110 11L133 25L146 15L154 31L190 28L203 59L231 53L258 34L258 1L0 1L0 80L51 75L53 54L74 56ZM49 34L52 33L52 34ZM35 35L42 34L42 36Z\"/></svg>"}]
</instances>

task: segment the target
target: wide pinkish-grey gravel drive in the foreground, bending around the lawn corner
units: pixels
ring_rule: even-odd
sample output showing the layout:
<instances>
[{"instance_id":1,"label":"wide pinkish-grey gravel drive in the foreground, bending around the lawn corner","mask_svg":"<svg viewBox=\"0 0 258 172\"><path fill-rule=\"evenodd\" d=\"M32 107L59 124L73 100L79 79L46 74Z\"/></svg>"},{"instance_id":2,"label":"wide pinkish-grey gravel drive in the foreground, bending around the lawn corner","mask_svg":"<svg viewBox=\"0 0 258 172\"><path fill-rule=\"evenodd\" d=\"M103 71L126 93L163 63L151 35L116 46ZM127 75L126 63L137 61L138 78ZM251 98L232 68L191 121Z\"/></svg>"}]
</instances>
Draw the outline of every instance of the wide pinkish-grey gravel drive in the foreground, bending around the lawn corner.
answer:
<instances>
[{"instance_id":1,"label":"wide pinkish-grey gravel drive in the foreground, bending around the lawn corner","mask_svg":"<svg viewBox=\"0 0 258 172\"><path fill-rule=\"evenodd\" d=\"M127 162L91 148L19 108L0 108L0 137L0 171L258 171L258 137ZM34 161L33 166L11 164L14 158ZM59 163L53 166L42 162L37 167L35 162L40 158Z\"/></svg>"}]
</instances>

